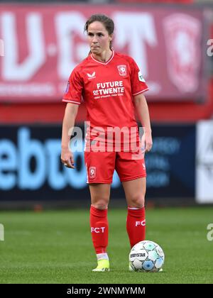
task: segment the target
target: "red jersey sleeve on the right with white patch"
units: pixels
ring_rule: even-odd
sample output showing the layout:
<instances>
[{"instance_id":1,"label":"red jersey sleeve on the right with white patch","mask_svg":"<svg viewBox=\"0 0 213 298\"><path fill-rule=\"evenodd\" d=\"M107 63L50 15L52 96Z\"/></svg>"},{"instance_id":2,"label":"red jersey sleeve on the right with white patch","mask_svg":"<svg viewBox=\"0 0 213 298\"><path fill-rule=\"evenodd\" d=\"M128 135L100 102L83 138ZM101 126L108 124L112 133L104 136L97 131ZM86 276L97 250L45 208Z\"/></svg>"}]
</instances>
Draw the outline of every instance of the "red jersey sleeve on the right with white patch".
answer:
<instances>
[{"instance_id":1,"label":"red jersey sleeve on the right with white patch","mask_svg":"<svg viewBox=\"0 0 213 298\"><path fill-rule=\"evenodd\" d=\"M146 84L145 79L143 78L143 75L141 74L141 71L139 70L138 65L136 62L132 59L130 63L131 67L131 92L132 95L137 95L140 93L143 93L145 91L148 91L148 86Z\"/></svg>"}]
</instances>

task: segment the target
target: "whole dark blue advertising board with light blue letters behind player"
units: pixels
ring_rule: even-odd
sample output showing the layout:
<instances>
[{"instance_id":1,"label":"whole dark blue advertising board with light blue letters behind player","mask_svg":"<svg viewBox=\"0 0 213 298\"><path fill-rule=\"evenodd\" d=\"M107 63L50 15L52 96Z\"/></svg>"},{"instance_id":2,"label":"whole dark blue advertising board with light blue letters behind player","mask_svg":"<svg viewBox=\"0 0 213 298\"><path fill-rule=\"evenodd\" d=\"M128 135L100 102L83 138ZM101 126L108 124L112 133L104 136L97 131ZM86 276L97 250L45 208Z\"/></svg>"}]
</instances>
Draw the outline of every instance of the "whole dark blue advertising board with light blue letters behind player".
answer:
<instances>
[{"instance_id":1,"label":"whole dark blue advertising board with light blue letters behind player","mask_svg":"<svg viewBox=\"0 0 213 298\"><path fill-rule=\"evenodd\" d=\"M60 162L60 137L60 126L0 126L0 202L89 199L84 141L77 138L70 170ZM195 126L153 126L146 170L148 199L193 200ZM116 172L111 187L113 199L124 198Z\"/></svg>"}]
</instances>

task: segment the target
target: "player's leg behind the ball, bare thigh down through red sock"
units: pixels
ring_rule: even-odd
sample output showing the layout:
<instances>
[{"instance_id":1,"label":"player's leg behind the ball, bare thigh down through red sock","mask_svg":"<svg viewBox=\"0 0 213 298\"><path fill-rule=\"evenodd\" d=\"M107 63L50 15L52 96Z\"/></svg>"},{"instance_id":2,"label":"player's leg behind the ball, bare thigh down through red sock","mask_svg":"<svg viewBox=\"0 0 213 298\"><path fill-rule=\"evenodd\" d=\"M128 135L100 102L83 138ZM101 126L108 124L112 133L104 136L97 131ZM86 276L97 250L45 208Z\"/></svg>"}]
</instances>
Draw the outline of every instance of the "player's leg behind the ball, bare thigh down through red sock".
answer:
<instances>
[{"instance_id":1,"label":"player's leg behind the ball, bare thigh down through red sock","mask_svg":"<svg viewBox=\"0 0 213 298\"><path fill-rule=\"evenodd\" d=\"M146 236L146 218L144 200L146 194L146 177L122 182L128 205L126 230L131 248Z\"/></svg>"}]
</instances>

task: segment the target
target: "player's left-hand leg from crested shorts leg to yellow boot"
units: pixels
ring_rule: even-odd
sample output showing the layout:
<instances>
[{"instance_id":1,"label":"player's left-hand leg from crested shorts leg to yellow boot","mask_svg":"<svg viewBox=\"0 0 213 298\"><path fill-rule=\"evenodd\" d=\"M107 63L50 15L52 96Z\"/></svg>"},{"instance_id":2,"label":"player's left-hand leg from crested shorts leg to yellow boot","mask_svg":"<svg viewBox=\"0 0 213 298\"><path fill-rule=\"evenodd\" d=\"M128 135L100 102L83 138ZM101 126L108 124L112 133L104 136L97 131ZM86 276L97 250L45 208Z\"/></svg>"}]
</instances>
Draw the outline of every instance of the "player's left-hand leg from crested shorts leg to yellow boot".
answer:
<instances>
[{"instance_id":1,"label":"player's left-hand leg from crested shorts leg to yellow boot","mask_svg":"<svg viewBox=\"0 0 213 298\"><path fill-rule=\"evenodd\" d=\"M90 208L91 235L98 260L98 267L95 271L109 271L107 207L115 153L85 152L84 159L92 203Z\"/></svg>"}]
</instances>

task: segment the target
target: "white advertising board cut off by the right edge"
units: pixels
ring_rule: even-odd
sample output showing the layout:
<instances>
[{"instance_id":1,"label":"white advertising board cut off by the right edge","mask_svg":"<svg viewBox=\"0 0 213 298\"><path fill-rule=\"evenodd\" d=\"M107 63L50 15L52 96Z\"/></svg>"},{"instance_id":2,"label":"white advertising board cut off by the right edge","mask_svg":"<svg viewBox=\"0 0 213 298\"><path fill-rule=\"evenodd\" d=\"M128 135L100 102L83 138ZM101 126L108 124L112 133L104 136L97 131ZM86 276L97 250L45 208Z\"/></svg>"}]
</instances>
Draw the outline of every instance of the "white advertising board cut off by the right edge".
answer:
<instances>
[{"instance_id":1,"label":"white advertising board cut off by the right edge","mask_svg":"<svg viewBox=\"0 0 213 298\"><path fill-rule=\"evenodd\" d=\"M213 121L197 123L196 202L213 203Z\"/></svg>"}]
</instances>

